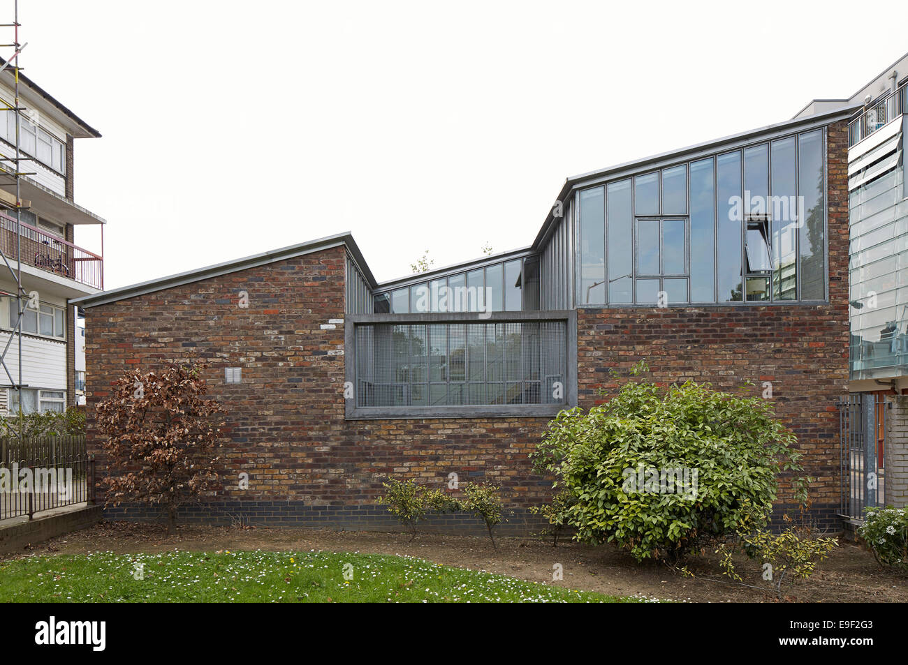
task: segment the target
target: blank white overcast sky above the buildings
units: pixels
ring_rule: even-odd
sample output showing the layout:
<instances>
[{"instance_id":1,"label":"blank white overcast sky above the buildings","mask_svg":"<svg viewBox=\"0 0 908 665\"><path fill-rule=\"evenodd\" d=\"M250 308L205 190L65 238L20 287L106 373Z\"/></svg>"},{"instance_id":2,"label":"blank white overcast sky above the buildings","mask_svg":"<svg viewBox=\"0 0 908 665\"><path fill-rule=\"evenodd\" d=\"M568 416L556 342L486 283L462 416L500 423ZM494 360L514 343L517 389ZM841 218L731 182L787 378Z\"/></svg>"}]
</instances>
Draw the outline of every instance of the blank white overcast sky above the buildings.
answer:
<instances>
[{"instance_id":1,"label":"blank white overcast sky above the buildings","mask_svg":"<svg viewBox=\"0 0 908 665\"><path fill-rule=\"evenodd\" d=\"M908 51L904 0L19 5L25 73L104 135L74 172L107 288L343 230L380 280L524 247L568 176L787 120Z\"/></svg>"}]
</instances>

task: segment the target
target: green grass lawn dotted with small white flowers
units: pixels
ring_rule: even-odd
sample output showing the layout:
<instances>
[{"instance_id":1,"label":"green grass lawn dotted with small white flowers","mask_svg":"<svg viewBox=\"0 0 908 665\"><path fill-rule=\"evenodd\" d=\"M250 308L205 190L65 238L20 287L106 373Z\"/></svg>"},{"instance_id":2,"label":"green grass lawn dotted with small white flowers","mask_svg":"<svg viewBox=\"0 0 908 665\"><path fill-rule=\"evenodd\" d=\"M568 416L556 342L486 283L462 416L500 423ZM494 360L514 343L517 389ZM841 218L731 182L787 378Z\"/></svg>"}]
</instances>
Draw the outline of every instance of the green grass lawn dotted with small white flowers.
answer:
<instances>
[{"instance_id":1,"label":"green grass lawn dotted with small white flowers","mask_svg":"<svg viewBox=\"0 0 908 665\"><path fill-rule=\"evenodd\" d=\"M349 564L349 565L348 565ZM137 570L142 575L136 574ZM351 579L345 579L346 577ZM141 576L142 579L134 579ZM0 602L625 602L412 557L91 553L0 562Z\"/></svg>"}]
</instances>

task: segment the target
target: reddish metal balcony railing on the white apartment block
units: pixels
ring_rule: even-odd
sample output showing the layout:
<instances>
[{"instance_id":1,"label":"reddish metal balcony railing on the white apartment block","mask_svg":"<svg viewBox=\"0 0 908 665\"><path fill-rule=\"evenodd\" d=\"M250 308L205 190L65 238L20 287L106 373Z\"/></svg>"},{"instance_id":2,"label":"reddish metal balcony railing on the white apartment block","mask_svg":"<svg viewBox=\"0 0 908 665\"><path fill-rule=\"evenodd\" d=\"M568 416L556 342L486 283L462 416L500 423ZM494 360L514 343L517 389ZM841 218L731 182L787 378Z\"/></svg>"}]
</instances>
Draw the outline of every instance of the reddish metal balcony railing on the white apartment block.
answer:
<instances>
[{"instance_id":1,"label":"reddish metal balcony railing on the white apartment block","mask_svg":"<svg viewBox=\"0 0 908 665\"><path fill-rule=\"evenodd\" d=\"M104 289L104 259L45 230L19 222L19 255L23 265L35 266L85 286ZM0 213L0 250L16 259L15 219Z\"/></svg>"}]
</instances>

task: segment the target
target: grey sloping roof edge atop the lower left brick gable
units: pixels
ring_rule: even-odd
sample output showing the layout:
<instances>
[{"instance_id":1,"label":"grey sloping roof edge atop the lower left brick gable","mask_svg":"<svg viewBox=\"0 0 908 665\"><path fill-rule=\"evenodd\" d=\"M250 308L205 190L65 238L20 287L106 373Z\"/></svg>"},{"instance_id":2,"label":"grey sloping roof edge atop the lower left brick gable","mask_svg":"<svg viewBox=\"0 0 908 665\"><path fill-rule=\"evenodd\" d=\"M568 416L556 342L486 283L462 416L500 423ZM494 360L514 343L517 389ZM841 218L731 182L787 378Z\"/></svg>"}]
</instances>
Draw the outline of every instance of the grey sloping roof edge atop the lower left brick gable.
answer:
<instances>
[{"instance_id":1,"label":"grey sloping roof edge atop the lower left brick gable","mask_svg":"<svg viewBox=\"0 0 908 665\"><path fill-rule=\"evenodd\" d=\"M304 254L311 254L316 251L321 251L322 249L331 249L332 247L341 246L346 247L348 251L350 251L353 259L359 265L360 270L363 273L363 277L366 279L366 281L369 282L370 288L375 288L376 286L378 286L378 282L375 281L375 277L372 275L368 265L366 264L366 260L362 257L362 253L360 252L360 248L356 244L356 240L353 240L353 236L350 235L350 231L344 231L343 233L337 233L333 236L326 236L325 238L320 238L318 240L308 240L307 242L301 242L296 245L281 247L281 249L271 249L270 251L263 251L260 254L252 254L252 256L242 257L242 259L233 259L230 261L224 261L223 263L215 263L212 266L205 266L204 268L188 270L186 272L180 272L175 275L168 275L167 277L158 279L150 279L149 281L139 282L138 284L131 284L127 287L112 288L108 291L95 293L91 296L84 296L84 298L74 298L70 300L70 303L86 308L96 307L98 305L106 305L111 302L116 302L117 300L135 298L136 296L143 296L146 293L161 291L164 288L172 288L182 286L183 284L191 284L192 282L197 282L201 281L202 279L209 279L212 277L219 277L221 275L236 272L237 270L255 268L257 266L263 266L268 263L274 263L276 261L281 261L284 259L292 259L293 257L303 256Z\"/></svg>"}]
</instances>

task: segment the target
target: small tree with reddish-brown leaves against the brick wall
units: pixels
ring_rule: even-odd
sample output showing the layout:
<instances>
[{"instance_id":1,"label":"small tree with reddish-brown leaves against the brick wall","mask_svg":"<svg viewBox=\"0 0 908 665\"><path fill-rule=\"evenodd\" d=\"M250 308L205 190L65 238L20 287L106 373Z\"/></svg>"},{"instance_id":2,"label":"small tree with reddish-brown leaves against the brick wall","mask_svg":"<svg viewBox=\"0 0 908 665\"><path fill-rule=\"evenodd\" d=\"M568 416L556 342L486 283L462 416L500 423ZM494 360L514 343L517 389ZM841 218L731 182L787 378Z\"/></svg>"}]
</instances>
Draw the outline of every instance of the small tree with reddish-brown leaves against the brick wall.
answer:
<instances>
[{"instance_id":1,"label":"small tree with reddish-brown leaves against the brick wall","mask_svg":"<svg viewBox=\"0 0 908 665\"><path fill-rule=\"evenodd\" d=\"M205 367L198 362L127 372L95 409L98 430L107 437L107 504L159 506L168 533L176 530L181 505L217 486L220 458L213 451L223 423L212 416L226 412L205 398Z\"/></svg>"}]
</instances>

